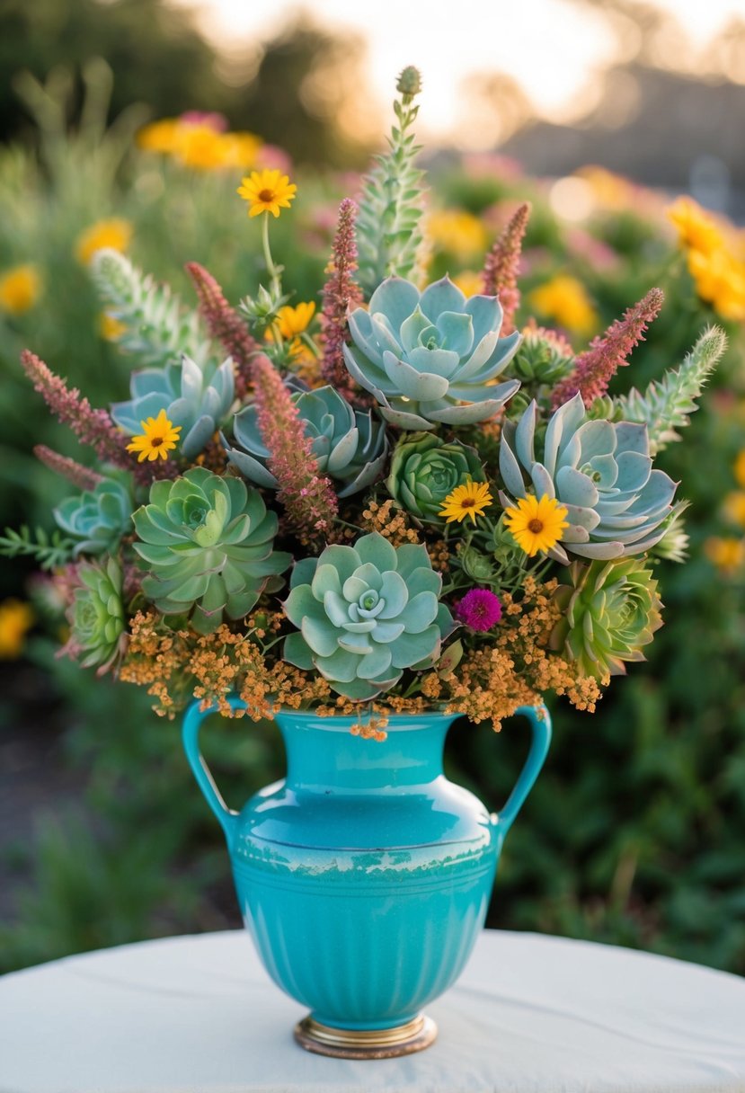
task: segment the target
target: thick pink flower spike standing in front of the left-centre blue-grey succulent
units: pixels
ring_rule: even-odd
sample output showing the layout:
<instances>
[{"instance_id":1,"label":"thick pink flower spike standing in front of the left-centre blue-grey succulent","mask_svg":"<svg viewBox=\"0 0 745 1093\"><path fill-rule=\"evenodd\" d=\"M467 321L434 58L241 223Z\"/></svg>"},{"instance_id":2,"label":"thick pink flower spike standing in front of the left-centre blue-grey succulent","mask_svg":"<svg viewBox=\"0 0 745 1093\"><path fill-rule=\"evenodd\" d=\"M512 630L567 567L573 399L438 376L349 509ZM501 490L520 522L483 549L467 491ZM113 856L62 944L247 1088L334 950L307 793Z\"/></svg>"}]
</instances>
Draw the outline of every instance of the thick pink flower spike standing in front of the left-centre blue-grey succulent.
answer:
<instances>
[{"instance_id":1,"label":"thick pink flower spike standing in front of the left-centre blue-grey succulent","mask_svg":"<svg viewBox=\"0 0 745 1093\"><path fill-rule=\"evenodd\" d=\"M251 365L261 438L269 448L268 466L280 483L279 500L288 521L306 545L331 538L339 503L328 478L320 473L292 396L263 353Z\"/></svg>"}]
</instances>

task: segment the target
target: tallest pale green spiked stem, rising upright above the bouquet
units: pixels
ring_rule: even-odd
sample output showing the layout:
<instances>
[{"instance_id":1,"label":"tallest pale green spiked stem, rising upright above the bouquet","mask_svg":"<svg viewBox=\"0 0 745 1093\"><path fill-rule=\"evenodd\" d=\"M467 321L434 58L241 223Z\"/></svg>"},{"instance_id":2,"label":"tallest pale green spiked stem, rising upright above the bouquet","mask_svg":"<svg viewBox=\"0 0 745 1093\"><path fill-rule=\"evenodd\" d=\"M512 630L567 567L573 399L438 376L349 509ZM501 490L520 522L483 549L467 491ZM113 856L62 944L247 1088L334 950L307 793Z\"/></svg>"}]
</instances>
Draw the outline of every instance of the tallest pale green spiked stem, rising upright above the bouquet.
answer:
<instances>
[{"instance_id":1,"label":"tallest pale green spiked stem, rising upright above the bouquet","mask_svg":"<svg viewBox=\"0 0 745 1093\"><path fill-rule=\"evenodd\" d=\"M397 83L401 98L393 103L398 126L388 139L389 151L376 156L372 171L365 178L357 216L357 281L369 296L387 277L416 273L424 251L422 220L422 179L415 165L419 151L411 131L418 106L414 98L421 91L418 71L409 67Z\"/></svg>"}]
</instances>

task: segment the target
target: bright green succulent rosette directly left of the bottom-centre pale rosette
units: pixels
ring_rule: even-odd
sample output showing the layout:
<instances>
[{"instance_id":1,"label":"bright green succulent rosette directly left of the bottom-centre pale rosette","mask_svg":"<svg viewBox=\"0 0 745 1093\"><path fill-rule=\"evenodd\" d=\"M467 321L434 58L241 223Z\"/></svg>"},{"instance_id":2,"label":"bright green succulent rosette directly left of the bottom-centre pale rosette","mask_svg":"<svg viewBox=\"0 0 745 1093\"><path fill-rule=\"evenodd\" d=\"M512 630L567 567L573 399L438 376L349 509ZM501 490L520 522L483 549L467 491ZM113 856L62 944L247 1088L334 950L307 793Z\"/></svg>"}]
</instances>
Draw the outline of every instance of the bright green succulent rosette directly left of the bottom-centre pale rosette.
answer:
<instances>
[{"instance_id":1,"label":"bright green succulent rosette directly left of the bottom-centre pale rosette","mask_svg":"<svg viewBox=\"0 0 745 1093\"><path fill-rule=\"evenodd\" d=\"M280 587L272 578L292 561L272 550L277 520L259 492L203 467L153 482L150 504L132 519L149 569L144 596L163 614L190 615L200 634L224 615L243 619L264 589Z\"/></svg>"}]
</instances>

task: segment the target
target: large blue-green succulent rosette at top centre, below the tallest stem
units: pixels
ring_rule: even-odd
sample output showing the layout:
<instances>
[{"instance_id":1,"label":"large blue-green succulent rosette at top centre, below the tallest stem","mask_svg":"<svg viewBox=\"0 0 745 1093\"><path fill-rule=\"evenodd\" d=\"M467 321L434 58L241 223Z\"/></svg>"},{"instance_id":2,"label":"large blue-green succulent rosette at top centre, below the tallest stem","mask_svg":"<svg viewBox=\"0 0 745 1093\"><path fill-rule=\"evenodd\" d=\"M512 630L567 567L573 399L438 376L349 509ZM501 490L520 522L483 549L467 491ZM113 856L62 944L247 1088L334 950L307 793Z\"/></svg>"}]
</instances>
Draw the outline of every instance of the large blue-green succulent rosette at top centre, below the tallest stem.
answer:
<instances>
[{"instance_id":1,"label":"large blue-green succulent rosette at top centre, below the tallest stem","mask_svg":"<svg viewBox=\"0 0 745 1093\"><path fill-rule=\"evenodd\" d=\"M423 293L391 277L369 308L350 315L353 344L346 367L380 403L383 418L405 430L439 423L466 425L501 410L520 380L493 386L520 344L517 331L499 338L502 310L496 296L471 296L449 278Z\"/></svg>"}]
</instances>

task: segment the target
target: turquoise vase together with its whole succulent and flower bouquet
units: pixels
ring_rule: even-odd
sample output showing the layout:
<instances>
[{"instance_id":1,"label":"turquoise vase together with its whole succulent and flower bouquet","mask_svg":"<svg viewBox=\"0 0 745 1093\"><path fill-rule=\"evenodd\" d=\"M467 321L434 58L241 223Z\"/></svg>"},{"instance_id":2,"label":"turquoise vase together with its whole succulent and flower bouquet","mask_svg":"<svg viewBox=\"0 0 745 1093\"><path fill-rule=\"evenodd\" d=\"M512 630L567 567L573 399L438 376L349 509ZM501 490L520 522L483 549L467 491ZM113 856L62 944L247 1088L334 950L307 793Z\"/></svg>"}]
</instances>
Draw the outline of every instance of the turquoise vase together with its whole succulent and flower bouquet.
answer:
<instances>
[{"instance_id":1,"label":"turquoise vase together with its whole succulent and flower bouquet","mask_svg":"<svg viewBox=\"0 0 745 1093\"><path fill-rule=\"evenodd\" d=\"M546 754L544 696L592 710L643 659L662 622L658 566L687 544L685 502L655 459L724 348L707 330L662 379L614 397L659 290L579 352L518 329L528 205L485 256L480 293L427 283L418 91L404 70L389 150L342 201L318 315L285 294L271 251L296 198L276 169L238 190L265 283L237 308L196 263L190 310L98 252L138 365L130 397L92 409L24 354L100 466L39 449L78 492L51 538L2 540L52 572L70 656L146 686L162 714L191 703L187 753L246 922L312 1010L297 1038L354 1057L434 1038L419 1009L483 925ZM287 748L287 778L239 814L199 754L214 709L275 717ZM461 715L498 728L516 712L533 743L494 814L444 778L442 742Z\"/></svg>"}]
</instances>

